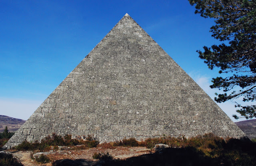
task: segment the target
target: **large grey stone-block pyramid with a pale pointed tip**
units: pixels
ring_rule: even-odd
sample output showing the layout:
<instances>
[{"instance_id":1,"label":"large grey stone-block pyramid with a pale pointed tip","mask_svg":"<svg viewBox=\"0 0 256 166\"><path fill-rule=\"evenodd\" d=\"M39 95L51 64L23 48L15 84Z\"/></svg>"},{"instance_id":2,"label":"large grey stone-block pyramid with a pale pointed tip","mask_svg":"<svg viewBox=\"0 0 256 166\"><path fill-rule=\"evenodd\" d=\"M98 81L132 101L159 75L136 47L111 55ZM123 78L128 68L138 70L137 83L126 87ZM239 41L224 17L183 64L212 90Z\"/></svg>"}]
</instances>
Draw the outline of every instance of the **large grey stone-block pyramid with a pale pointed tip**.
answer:
<instances>
[{"instance_id":1,"label":"large grey stone-block pyramid with a pale pointed tip","mask_svg":"<svg viewBox=\"0 0 256 166\"><path fill-rule=\"evenodd\" d=\"M52 133L100 142L244 132L128 15L56 87L4 148Z\"/></svg>"}]
</instances>

